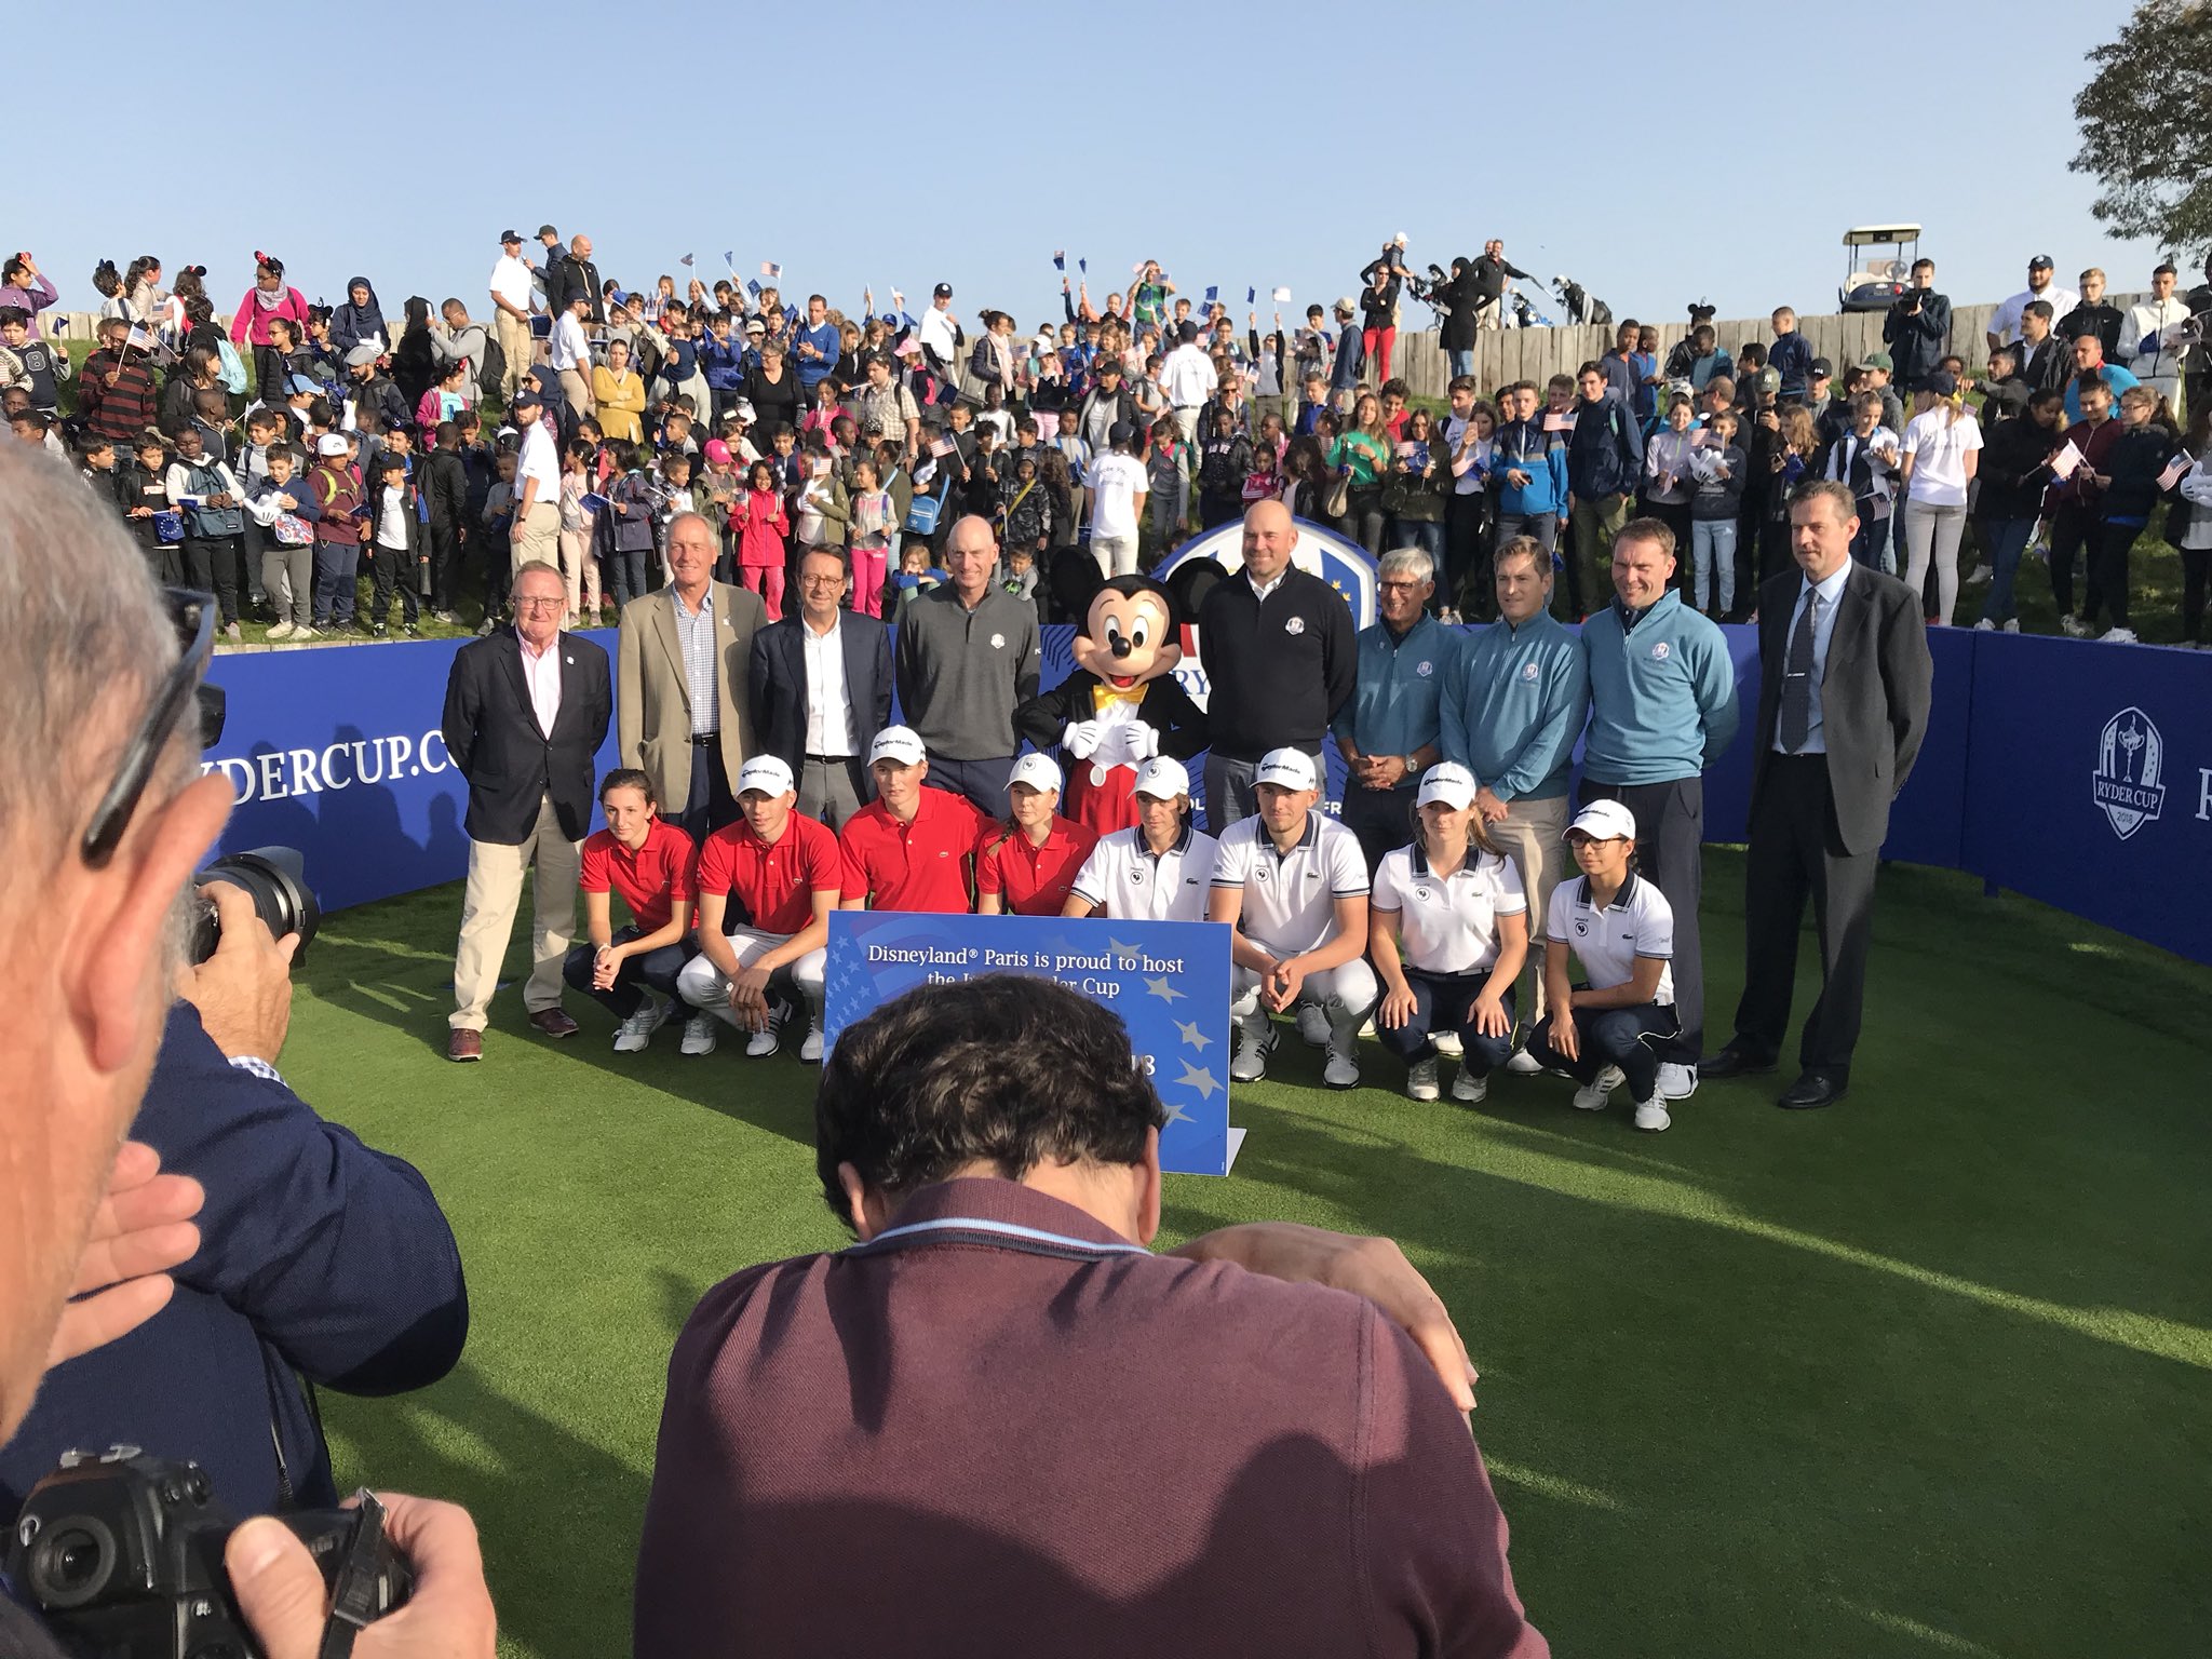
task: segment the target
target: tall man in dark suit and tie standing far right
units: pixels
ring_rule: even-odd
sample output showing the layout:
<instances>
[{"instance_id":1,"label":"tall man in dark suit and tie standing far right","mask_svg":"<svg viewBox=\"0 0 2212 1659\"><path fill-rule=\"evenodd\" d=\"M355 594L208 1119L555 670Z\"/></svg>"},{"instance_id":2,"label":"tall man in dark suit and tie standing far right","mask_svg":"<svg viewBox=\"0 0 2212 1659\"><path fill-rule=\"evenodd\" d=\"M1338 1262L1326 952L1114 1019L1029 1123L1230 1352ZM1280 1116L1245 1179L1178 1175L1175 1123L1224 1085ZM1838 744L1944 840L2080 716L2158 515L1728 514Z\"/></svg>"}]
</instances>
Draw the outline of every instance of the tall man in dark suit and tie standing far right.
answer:
<instances>
[{"instance_id":1,"label":"tall man in dark suit and tie standing far right","mask_svg":"<svg viewBox=\"0 0 2212 1659\"><path fill-rule=\"evenodd\" d=\"M1803 1075L1778 1102L1790 1108L1832 1106L1849 1086L1874 872L1889 836L1889 803L1929 728L1933 664L1920 595L1856 562L1856 533L1849 487L1801 487L1790 498L1798 568L1759 591L1743 1000L1736 1035L1703 1066L1705 1077L1774 1071L1812 894L1820 998L1798 1042Z\"/></svg>"}]
</instances>

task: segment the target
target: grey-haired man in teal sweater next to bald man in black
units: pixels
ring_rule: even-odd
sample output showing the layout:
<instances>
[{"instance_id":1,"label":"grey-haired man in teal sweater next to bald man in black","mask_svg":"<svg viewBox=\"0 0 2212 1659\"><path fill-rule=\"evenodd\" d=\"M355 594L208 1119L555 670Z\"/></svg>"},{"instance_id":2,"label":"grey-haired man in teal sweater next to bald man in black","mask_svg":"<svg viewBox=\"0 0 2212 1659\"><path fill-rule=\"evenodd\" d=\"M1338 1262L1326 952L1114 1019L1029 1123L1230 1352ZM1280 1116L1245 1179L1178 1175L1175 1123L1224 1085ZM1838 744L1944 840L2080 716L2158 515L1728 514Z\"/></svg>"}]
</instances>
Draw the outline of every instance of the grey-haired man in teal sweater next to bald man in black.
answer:
<instances>
[{"instance_id":1,"label":"grey-haired man in teal sweater next to bald man in black","mask_svg":"<svg viewBox=\"0 0 2212 1659\"><path fill-rule=\"evenodd\" d=\"M1367 874L1413 838L1420 774L1442 754L1438 692L1458 639L1429 615L1436 562L1418 546L1376 566L1380 622L1360 628L1358 677L1329 732L1345 757L1343 825L1360 841Z\"/></svg>"}]
</instances>

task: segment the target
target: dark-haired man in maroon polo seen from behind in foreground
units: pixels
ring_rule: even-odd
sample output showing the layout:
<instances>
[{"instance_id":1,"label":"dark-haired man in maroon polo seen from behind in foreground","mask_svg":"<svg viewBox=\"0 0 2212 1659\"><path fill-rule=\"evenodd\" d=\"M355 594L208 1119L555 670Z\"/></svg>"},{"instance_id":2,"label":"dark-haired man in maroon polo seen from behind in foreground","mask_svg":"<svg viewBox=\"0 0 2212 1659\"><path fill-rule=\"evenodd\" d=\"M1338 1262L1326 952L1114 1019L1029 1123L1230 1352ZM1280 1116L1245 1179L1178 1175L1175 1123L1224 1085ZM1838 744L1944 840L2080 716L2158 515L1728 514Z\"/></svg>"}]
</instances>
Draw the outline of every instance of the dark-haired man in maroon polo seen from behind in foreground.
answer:
<instances>
[{"instance_id":1,"label":"dark-haired man in maroon polo seen from behind in foreground","mask_svg":"<svg viewBox=\"0 0 2212 1659\"><path fill-rule=\"evenodd\" d=\"M1283 1283L1307 1230L1146 1252L1166 1113L1130 1062L1013 975L838 1035L816 1168L860 1243L723 1281L677 1340L635 1652L1548 1655L1464 1354L1440 1383L1433 1332Z\"/></svg>"}]
</instances>

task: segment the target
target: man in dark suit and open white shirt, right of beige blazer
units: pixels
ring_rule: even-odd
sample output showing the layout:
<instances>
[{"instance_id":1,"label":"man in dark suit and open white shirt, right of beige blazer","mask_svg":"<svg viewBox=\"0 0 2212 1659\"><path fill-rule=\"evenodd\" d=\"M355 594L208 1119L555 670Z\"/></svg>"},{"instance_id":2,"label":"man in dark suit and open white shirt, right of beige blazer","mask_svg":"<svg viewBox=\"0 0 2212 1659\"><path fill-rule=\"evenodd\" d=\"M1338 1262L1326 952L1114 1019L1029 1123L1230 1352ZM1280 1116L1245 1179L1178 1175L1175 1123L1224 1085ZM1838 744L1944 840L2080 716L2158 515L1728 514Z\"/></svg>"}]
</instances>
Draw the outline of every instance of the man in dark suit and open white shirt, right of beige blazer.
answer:
<instances>
[{"instance_id":1,"label":"man in dark suit and open white shirt, right of beige blazer","mask_svg":"<svg viewBox=\"0 0 2212 1659\"><path fill-rule=\"evenodd\" d=\"M752 639L754 752L799 779L799 810L841 827L876 799L867 745L891 723L891 630L843 611L852 555L810 546L799 560L799 615Z\"/></svg>"}]
</instances>

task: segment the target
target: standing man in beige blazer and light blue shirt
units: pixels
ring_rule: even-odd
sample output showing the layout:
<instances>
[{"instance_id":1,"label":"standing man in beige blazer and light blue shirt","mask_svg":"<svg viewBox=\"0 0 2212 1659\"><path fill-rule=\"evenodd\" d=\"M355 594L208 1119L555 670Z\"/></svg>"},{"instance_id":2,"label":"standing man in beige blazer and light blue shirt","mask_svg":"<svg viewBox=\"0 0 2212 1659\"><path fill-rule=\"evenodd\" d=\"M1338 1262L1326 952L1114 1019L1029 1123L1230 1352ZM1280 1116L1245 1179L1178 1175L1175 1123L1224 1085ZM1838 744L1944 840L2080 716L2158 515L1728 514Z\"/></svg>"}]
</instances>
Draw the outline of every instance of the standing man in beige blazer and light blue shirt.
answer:
<instances>
[{"instance_id":1,"label":"standing man in beige blazer and light blue shirt","mask_svg":"<svg viewBox=\"0 0 2212 1659\"><path fill-rule=\"evenodd\" d=\"M622 608L615 730L622 765L653 779L661 816L701 843L737 818L730 781L752 754L745 670L768 608L714 582L714 526L699 513L670 520L668 573Z\"/></svg>"}]
</instances>

